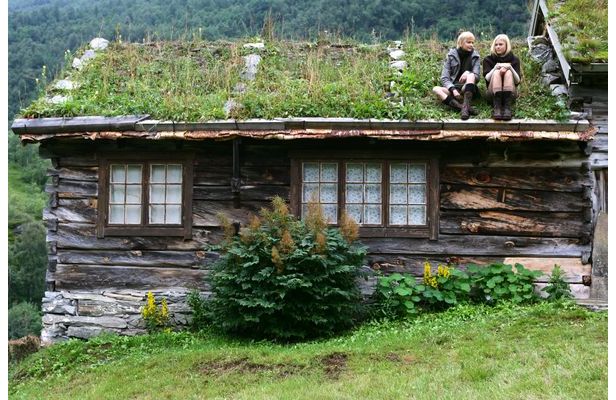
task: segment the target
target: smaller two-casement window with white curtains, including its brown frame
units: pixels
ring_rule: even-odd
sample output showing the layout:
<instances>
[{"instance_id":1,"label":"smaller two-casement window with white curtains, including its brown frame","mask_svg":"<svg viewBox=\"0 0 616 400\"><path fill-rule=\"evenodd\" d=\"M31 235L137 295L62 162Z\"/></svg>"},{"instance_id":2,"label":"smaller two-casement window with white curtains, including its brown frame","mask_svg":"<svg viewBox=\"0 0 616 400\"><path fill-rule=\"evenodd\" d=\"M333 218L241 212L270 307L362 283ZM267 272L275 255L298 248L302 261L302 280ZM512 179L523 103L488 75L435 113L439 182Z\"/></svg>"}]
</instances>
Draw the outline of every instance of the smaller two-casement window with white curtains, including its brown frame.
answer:
<instances>
[{"instance_id":1,"label":"smaller two-casement window with white curtains, including its brown frame","mask_svg":"<svg viewBox=\"0 0 616 400\"><path fill-rule=\"evenodd\" d=\"M191 237L192 158L108 157L99 166L98 236Z\"/></svg>"}]
</instances>

